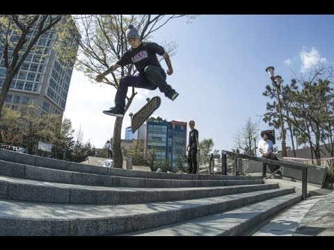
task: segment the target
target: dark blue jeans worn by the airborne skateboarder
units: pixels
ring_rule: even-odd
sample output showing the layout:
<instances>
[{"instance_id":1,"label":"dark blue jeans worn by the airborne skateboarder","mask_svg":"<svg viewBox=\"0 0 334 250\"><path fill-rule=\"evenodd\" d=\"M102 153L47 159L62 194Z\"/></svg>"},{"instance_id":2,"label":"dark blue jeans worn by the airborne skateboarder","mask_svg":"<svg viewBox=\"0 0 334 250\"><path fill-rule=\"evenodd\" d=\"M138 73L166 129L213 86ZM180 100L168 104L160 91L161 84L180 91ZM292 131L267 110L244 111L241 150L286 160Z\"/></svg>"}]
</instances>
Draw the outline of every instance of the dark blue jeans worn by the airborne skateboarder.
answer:
<instances>
[{"instance_id":1,"label":"dark blue jeans worn by the airborne skateboarder","mask_svg":"<svg viewBox=\"0 0 334 250\"><path fill-rule=\"evenodd\" d=\"M127 97L127 88L144 88L146 90L156 90L159 88L165 94L165 97L170 98L175 90L166 83L166 72L163 68L148 65L144 72L138 76L124 76L120 78L120 84L115 97L115 106L118 110L124 111L125 98Z\"/></svg>"}]
</instances>

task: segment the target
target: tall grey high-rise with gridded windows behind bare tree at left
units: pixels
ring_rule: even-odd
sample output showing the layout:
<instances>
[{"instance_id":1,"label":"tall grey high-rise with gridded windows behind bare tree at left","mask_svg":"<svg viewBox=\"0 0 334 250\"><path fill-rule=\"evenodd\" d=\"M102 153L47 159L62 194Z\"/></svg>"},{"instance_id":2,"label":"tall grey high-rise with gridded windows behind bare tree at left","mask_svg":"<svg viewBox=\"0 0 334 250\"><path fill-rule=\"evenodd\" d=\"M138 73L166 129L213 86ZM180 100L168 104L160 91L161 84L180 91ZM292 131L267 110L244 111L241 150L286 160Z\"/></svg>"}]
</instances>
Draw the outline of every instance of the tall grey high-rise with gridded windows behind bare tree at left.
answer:
<instances>
[{"instance_id":1,"label":"tall grey high-rise with gridded windows behind bare tree at left","mask_svg":"<svg viewBox=\"0 0 334 250\"><path fill-rule=\"evenodd\" d=\"M11 41L18 40L15 31L11 31L9 35ZM31 39L31 35L27 35L26 39ZM58 52L52 49L56 40L54 29L40 36L35 49L29 53L13 78L6 96L6 107L22 110L27 104L33 104L40 107L36 116L43 113L63 116L74 65L63 65L56 61ZM69 41L68 44L78 48L74 41ZM9 49L8 58L12 53L13 48ZM5 76L3 45L0 44L0 89Z\"/></svg>"}]
</instances>

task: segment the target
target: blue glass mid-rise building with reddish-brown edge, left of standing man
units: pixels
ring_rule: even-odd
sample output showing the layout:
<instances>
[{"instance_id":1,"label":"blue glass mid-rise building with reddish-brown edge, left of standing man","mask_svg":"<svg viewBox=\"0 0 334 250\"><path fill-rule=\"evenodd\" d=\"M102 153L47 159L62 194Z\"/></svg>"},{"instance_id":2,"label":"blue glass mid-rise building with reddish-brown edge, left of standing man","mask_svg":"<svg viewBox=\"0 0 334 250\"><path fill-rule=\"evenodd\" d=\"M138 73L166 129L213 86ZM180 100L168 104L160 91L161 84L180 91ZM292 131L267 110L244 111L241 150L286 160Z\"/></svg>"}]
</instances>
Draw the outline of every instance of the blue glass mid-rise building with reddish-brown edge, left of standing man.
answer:
<instances>
[{"instance_id":1,"label":"blue glass mid-rise building with reddish-brown edge, left of standing man","mask_svg":"<svg viewBox=\"0 0 334 250\"><path fill-rule=\"evenodd\" d=\"M186 122L147 122L145 153L155 150L156 160L168 160L175 167L186 148Z\"/></svg>"}]
</instances>

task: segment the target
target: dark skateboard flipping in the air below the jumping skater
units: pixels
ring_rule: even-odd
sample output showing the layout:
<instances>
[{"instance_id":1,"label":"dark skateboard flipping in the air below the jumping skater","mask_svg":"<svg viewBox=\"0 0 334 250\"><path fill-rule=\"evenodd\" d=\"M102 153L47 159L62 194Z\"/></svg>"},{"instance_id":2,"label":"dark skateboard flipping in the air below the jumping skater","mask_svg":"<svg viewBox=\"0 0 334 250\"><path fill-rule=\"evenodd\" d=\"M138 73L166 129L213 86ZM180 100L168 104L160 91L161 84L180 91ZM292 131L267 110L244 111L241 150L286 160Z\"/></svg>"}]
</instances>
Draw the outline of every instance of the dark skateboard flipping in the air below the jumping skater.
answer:
<instances>
[{"instance_id":1,"label":"dark skateboard flipping in the air below the jumping skater","mask_svg":"<svg viewBox=\"0 0 334 250\"><path fill-rule=\"evenodd\" d=\"M152 99L148 98L146 101L148 101L148 103L146 103L143 108L138 110L137 113L134 115L132 113L129 114L131 117L132 133L136 132L136 130L140 128L148 118L150 118L150 116L159 108L161 104L160 97L153 97Z\"/></svg>"}]
</instances>

